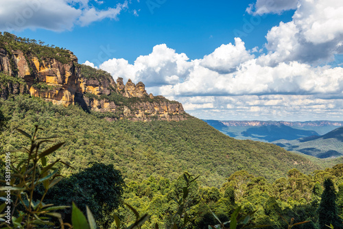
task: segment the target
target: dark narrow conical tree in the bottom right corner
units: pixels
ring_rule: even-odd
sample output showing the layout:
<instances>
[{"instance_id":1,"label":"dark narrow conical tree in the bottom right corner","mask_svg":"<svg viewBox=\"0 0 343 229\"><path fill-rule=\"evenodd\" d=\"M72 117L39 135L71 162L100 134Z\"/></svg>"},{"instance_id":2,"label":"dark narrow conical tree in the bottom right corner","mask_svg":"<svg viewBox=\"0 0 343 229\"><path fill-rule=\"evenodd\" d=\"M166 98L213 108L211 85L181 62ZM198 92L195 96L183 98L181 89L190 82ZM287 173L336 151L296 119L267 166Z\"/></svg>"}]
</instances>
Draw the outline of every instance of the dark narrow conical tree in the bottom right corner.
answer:
<instances>
[{"instance_id":1,"label":"dark narrow conical tree in the bottom right corner","mask_svg":"<svg viewBox=\"0 0 343 229\"><path fill-rule=\"evenodd\" d=\"M333 186L333 182L330 179L324 181L324 192L318 207L318 222L320 229L327 228L330 224L335 229L343 228L342 220L338 217L335 186Z\"/></svg>"}]
</instances>

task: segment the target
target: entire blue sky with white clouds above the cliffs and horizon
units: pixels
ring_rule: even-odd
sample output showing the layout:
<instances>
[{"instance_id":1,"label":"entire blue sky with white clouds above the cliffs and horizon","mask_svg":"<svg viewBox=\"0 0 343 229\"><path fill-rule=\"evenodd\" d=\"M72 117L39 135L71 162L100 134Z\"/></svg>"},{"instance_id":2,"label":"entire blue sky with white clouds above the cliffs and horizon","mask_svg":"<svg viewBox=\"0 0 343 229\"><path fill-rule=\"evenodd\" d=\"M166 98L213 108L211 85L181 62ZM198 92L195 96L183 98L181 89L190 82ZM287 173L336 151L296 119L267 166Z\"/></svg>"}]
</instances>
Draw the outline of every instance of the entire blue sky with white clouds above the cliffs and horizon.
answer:
<instances>
[{"instance_id":1,"label":"entire blue sky with white clouds above the cliffs and horizon","mask_svg":"<svg viewBox=\"0 0 343 229\"><path fill-rule=\"evenodd\" d=\"M342 0L0 0L0 31L200 119L343 121Z\"/></svg>"}]
</instances>

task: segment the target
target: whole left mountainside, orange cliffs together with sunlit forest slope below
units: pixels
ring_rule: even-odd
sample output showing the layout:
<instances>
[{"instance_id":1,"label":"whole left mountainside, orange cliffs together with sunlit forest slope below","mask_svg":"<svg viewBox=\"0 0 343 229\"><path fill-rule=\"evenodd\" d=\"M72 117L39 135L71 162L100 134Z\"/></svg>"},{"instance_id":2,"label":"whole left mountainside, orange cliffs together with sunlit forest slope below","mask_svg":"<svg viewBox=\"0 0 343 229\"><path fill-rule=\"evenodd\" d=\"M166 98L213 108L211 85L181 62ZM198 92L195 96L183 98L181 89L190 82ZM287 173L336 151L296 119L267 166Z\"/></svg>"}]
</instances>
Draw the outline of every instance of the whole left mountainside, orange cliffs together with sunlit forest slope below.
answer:
<instances>
[{"instance_id":1,"label":"whole left mountainside, orange cliffs together with sunlit forest slope below","mask_svg":"<svg viewBox=\"0 0 343 229\"><path fill-rule=\"evenodd\" d=\"M143 82L124 85L121 78L115 82L104 71L78 64L71 51L12 34L0 36L0 48L0 105L9 128L1 134L5 151L26 144L15 128L29 132L40 125L46 136L66 142L56 157L75 171L106 162L130 180L189 171L219 186L241 169L268 180L292 168L320 169L279 146L230 138L187 115L177 101L147 95Z\"/></svg>"}]
</instances>

